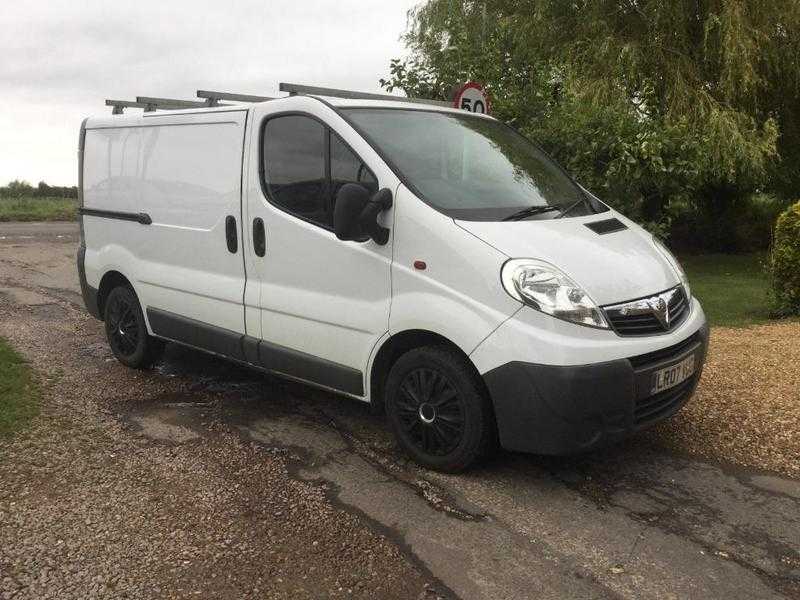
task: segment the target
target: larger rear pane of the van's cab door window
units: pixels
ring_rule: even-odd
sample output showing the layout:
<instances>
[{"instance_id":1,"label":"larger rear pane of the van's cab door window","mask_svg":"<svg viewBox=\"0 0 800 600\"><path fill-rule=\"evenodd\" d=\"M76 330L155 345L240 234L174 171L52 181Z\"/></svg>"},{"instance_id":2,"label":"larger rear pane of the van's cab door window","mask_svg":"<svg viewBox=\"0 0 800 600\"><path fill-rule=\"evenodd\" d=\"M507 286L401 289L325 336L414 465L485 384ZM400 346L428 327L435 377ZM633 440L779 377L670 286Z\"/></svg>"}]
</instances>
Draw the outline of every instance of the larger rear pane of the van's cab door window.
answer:
<instances>
[{"instance_id":1,"label":"larger rear pane of the van's cab door window","mask_svg":"<svg viewBox=\"0 0 800 600\"><path fill-rule=\"evenodd\" d=\"M285 116L264 129L264 179L273 201L301 217L330 225L325 175L325 127L309 117Z\"/></svg>"}]
</instances>

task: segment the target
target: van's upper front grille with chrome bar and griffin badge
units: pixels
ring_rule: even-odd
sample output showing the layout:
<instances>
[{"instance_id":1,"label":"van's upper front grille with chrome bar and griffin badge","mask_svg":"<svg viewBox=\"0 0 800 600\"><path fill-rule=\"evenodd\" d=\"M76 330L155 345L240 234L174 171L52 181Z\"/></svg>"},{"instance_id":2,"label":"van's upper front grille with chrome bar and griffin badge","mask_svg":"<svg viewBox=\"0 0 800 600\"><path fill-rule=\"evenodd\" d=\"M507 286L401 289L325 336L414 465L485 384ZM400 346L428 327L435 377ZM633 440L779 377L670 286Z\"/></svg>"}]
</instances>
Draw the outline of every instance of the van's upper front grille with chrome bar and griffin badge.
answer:
<instances>
[{"instance_id":1,"label":"van's upper front grille with chrome bar and griffin badge","mask_svg":"<svg viewBox=\"0 0 800 600\"><path fill-rule=\"evenodd\" d=\"M659 298L667 305L666 314L669 315L669 320L666 323L650 306L651 301L657 302ZM606 306L604 310L611 327L619 335L654 335L672 331L683 323L689 315L689 299L683 286L679 285L662 294Z\"/></svg>"}]
</instances>

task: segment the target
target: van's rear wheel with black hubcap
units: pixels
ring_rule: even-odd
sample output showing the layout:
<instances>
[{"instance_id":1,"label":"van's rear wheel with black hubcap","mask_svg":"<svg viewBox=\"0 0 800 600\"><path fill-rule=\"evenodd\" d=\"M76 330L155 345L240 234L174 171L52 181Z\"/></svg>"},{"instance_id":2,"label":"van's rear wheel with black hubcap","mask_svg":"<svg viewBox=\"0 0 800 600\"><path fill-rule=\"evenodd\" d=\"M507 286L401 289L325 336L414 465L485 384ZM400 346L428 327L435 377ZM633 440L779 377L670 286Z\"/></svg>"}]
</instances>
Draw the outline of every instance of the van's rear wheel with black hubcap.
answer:
<instances>
[{"instance_id":1,"label":"van's rear wheel with black hubcap","mask_svg":"<svg viewBox=\"0 0 800 600\"><path fill-rule=\"evenodd\" d=\"M146 369L161 357L164 342L147 333L136 293L128 286L115 287L104 307L106 337L117 360L134 369Z\"/></svg>"}]
</instances>

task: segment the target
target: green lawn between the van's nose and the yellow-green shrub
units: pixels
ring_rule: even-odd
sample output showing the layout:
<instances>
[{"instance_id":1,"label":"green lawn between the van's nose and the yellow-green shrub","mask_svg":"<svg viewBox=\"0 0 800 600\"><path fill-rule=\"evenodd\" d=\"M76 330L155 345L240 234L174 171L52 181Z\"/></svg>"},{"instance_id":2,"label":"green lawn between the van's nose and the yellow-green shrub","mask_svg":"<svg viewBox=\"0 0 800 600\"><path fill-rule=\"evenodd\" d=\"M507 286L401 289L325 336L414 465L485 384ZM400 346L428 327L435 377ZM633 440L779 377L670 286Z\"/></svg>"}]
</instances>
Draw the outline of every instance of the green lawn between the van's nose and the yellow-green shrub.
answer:
<instances>
[{"instance_id":1,"label":"green lawn between the van's nose and the yellow-green shrub","mask_svg":"<svg viewBox=\"0 0 800 600\"><path fill-rule=\"evenodd\" d=\"M681 258L692 293L711 325L743 327L769 321L766 254L702 254Z\"/></svg>"}]
</instances>

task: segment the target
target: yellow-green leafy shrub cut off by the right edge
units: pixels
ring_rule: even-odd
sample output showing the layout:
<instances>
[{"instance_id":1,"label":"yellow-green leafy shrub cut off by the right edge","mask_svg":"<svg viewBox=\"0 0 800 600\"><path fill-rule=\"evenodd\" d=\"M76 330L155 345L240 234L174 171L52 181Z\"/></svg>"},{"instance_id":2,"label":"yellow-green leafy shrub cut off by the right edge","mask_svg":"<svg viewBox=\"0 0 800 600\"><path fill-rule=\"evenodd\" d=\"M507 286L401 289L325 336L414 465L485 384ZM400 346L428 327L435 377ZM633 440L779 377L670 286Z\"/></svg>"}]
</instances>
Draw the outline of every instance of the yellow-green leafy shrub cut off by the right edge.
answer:
<instances>
[{"instance_id":1,"label":"yellow-green leafy shrub cut off by the right edge","mask_svg":"<svg viewBox=\"0 0 800 600\"><path fill-rule=\"evenodd\" d=\"M773 313L800 315L800 202L778 217L770 270Z\"/></svg>"}]
</instances>

